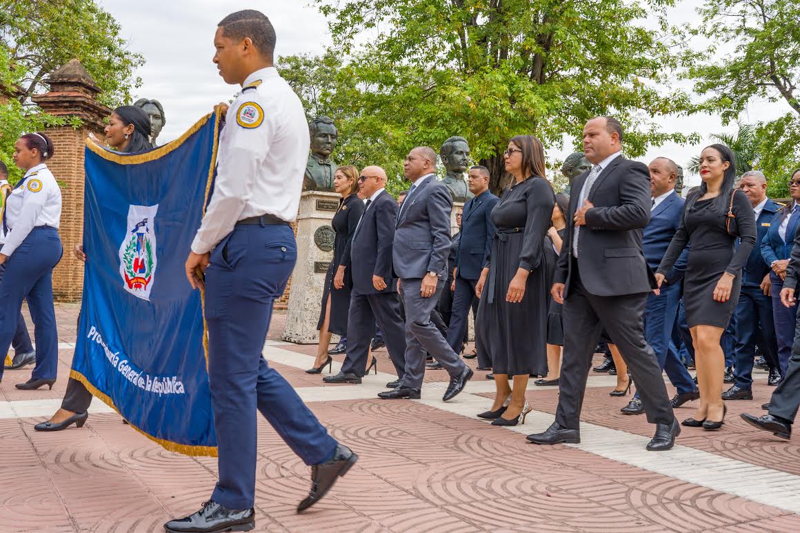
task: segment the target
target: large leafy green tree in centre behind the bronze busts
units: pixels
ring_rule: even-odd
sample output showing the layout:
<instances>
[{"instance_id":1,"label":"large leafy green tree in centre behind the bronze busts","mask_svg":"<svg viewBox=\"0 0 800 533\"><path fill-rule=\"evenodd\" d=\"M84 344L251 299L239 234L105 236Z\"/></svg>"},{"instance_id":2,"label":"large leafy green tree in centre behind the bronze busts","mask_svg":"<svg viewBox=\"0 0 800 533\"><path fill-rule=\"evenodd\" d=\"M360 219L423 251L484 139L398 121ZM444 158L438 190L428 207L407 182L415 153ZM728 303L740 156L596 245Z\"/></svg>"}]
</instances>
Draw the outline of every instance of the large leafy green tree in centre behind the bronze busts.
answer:
<instances>
[{"instance_id":1,"label":"large leafy green tree in centre behind the bronze busts","mask_svg":"<svg viewBox=\"0 0 800 533\"><path fill-rule=\"evenodd\" d=\"M348 136L343 154L398 168L411 147L460 134L498 190L514 134L561 145L563 134L579 138L588 118L614 114L631 156L697 139L663 133L652 120L694 110L681 91L656 88L677 66L662 17L672 0L314 2L330 19L331 54L342 63L322 108L346 109L331 115L362 138ZM662 30L645 28L650 16Z\"/></svg>"}]
</instances>

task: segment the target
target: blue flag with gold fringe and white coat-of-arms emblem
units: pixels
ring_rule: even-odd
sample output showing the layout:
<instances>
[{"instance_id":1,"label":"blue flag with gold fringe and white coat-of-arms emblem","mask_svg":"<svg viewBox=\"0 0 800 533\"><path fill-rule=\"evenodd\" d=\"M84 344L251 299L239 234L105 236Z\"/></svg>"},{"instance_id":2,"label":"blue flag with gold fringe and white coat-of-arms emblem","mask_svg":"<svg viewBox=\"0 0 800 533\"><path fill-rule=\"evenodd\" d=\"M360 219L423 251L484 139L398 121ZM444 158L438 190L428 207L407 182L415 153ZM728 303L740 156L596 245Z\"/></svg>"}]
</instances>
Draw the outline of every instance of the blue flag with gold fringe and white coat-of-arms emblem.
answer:
<instances>
[{"instance_id":1,"label":"blue flag with gold fringe and white coat-of-arms emblem","mask_svg":"<svg viewBox=\"0 0 800 533\"><path fill-rule=\"evenodd\" d=\"M86 142L86 271L71 377L167 450L217 455L202 299L184 269L220 122L119 154Z\"/></svg>"}]
</instances>

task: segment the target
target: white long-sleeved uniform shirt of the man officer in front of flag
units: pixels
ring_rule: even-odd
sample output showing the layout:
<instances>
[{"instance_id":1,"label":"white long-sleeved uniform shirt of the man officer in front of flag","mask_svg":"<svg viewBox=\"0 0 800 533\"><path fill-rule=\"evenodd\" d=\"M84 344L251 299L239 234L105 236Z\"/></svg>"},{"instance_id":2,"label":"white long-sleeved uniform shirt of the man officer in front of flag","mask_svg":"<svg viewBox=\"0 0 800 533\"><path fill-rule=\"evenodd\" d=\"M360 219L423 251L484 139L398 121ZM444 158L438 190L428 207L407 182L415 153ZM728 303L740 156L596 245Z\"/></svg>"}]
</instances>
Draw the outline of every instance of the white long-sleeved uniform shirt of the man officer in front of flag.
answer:
<instances>
[{"instance_id":1,"label":"white long-sleeved uniform shirt of the man officer in front of flag","mask_svg":"<svg viewBox=\"0 0 800 533\"><path fill-rule=\"evenodd\" d=\"M219 137L214 194L192 242L196 254L244 218L297 218L311 142L300 98L274 67L256 70L243 86Z\"/></svg>"}]
</instances>

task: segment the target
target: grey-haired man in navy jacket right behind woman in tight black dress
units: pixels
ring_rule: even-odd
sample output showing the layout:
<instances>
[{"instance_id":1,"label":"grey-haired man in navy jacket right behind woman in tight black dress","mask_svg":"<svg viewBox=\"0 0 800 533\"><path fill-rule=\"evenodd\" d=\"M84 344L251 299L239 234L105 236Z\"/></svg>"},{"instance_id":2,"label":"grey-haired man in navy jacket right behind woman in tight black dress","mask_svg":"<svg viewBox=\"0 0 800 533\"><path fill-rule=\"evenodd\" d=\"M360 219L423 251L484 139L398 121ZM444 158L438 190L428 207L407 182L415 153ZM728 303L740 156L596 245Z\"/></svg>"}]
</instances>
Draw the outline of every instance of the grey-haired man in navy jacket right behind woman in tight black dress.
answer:
<instances>
[{"instance_id":1,"label":"grey-haired man in navy jacket right behind woman in tight black dress","mask_svg":"<svg viewBox=\"0 0 800 533\"><path fill-rule=\"evenodd\" d=\"M770 230L775 213L783 207L766 197L766 177L758 170L742 174L739 189L750 198L755 211L755 226L759 244ZM778 371L778 340L770 297L770 266L761 256L761 246L755 246L742 268L742 289L736 305L734 333L734 385L722 393L722 399L753 399L753 361L755 346L770 367L768 382L777 385L781 379Z\"/></svg>"}]
</instances>

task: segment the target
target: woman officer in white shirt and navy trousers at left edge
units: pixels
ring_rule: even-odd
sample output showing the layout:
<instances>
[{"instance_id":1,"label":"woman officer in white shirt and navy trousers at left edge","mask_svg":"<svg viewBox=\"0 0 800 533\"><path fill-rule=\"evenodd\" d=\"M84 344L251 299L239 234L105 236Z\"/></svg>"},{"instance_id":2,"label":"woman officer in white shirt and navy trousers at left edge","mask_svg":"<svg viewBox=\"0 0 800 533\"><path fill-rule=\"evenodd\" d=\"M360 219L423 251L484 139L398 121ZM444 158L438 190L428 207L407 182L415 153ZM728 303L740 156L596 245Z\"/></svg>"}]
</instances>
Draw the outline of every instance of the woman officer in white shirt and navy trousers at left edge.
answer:
<instances>
[{"instance_id":1,"label":"woman officer in white shirt and navy trousers at left edge","mask_svg":"<svg viewBox=\"0 0 800 533\"><path fill-rule=\"evenodd\" d=\"M53 157L45 134L22 135L14 145L14 162L25 177L11 191L4 212L0 264L6 274L0 286L0 353L6 354L17 331L22 300L28 300L36 324L36 367L18 389L51 389L58 369L58 331L53 306L53 268L61 260L61 190L45 162ZM0 367L0 380L2 380Z\"/></svg>"}]
</instances>

